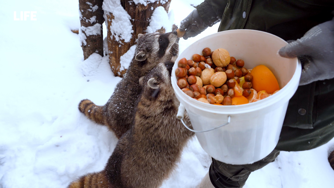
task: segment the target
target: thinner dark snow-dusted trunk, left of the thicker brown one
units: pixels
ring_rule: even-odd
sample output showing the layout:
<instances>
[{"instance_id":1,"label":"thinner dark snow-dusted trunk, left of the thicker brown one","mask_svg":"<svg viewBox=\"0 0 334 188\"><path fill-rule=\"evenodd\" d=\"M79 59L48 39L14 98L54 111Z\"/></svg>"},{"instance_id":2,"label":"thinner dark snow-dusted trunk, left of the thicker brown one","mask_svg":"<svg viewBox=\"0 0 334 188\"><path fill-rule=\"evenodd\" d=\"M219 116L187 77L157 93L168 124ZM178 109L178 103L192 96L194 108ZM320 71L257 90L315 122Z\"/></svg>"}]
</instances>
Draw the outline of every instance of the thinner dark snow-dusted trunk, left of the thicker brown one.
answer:
<instances>
[{"instance_id":1,"label":"thinner dark snow-dusted trunk, left of the thicker brown one","mask_svg":"<svg viewBox=\"0 0 334 188\"><path fill-rule=\"evenodd\" d=\"M79 0L79 37L84 60L93 53L103 56L102 3L103 0Z\"/></svg>"}]
</instances>

